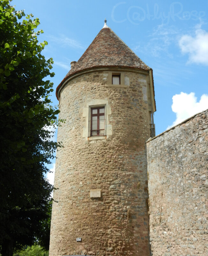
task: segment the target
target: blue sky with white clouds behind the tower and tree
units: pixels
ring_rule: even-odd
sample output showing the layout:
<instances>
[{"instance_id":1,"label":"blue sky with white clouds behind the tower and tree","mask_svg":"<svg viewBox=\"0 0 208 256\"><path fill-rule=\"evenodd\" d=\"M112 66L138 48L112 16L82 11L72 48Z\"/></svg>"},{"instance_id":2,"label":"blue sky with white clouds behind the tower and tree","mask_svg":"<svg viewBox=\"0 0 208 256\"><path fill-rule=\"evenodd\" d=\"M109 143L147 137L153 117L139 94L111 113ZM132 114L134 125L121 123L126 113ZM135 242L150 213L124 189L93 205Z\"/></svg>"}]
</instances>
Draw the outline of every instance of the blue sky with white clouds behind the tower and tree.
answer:
<instances>
[{"instance_id":1,"label":"blue sky with white clouds behind the tower and tree","mask_svg":"<svg viewBox=\"0 0 208 256\"><path fill-rule=\"evenodd\" d=\"M153 69L156 135L208 108L208 0L13 0L38 17L56 87L104 25ZM56 138L55 138L56 139ZM55 164L50 166L54 171ZM53 173L48 174L53 182Z\"/></svg>"}]
</instances>

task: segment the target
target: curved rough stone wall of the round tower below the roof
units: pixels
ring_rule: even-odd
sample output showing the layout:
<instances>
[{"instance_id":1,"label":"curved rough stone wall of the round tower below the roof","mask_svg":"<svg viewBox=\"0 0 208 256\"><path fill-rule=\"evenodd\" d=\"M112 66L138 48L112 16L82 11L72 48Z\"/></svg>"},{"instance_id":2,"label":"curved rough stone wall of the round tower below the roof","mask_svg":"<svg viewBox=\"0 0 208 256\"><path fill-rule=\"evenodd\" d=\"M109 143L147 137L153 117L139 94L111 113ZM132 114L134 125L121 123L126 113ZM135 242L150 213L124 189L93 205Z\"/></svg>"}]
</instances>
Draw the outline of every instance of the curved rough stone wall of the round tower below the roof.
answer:
<instances>
[{"instance_id":1,"label":"curved rough stone wall of the round tower below the roof","mask_svg":"<svg viewBox=\"0 0 208 256\"><path fill-rule=\"evenodd\" d=\"M106 87L107 71L72 79L61 92L50 256L149 256L145 141L149 138L148 76L126 72L127 88ZM147 74L148 75L148 74ZM112 135L82 137L83 109L108 100ZM90 189L101 189L90 198ZM82 242L76 238L81 237Z\"/></svg>"}]
</instances>

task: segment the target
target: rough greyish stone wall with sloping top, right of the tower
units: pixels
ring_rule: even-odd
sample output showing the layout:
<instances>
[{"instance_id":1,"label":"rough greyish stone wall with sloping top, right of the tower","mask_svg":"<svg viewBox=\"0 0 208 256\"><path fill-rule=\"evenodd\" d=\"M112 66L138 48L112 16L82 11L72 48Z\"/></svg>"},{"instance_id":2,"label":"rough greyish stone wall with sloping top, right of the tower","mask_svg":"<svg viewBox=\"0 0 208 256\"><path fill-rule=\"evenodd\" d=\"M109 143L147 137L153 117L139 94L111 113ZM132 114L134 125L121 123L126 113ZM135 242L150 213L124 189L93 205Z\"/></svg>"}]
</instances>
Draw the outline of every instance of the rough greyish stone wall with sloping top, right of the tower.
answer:
<instances>
[{"instance_id":1,"label":"rough greyish stone wall with sloping top, right of the tower","mask_svg":"<svg viewBox=\"0 0 208 256\"><path fill-rule=\"evenodd\" d=\"M208 110L147 142L152 256L208 255Z\"/></svg>"}]
</instances>

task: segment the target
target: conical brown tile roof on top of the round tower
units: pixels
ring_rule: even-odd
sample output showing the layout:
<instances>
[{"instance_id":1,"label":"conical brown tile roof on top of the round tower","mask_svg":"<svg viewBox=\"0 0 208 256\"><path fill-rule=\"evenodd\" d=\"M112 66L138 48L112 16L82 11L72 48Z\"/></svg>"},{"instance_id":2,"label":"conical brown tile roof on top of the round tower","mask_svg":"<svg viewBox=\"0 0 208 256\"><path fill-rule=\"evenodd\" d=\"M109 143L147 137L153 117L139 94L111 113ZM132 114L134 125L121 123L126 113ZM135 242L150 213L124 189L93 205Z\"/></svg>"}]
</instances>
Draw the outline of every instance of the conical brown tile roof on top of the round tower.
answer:
<instances>
[{"instance_id":1,"label":"conical brown tile roof on top of the round tower","mask_svg":"<svg viewBox=\"0 0 208 256\"><path fill-rule=\"evenodd\" d=\"M150 68L113 32L105 26L100 30L81 58L74 64L56 89L68 77L80 71L98 67L129 67L149 70Z\"/></svg>"}]
</instances>

